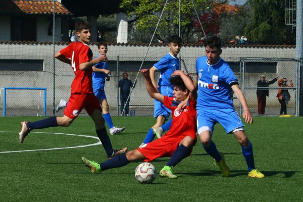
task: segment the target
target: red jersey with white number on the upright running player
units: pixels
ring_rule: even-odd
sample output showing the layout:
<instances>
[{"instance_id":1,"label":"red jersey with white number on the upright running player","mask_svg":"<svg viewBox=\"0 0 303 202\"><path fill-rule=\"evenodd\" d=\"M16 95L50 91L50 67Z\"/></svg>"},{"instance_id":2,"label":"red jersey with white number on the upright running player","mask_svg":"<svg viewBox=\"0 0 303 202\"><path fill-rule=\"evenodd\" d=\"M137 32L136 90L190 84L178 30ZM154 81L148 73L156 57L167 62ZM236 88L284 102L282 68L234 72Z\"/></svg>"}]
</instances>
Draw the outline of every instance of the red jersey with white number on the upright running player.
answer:
<instances>
[{"instance_id":1,"label":"red jersey with white number on the upright running player","mask_svg":"<svg viewBox=\"0 0 303 202\"><path fill-rule=\"evenodd\" d=\"M63 48L60 53L71 59L72 70L75 73L71 93L92 93L92 68L85 71L79 69L80 64L92 59L92 51L89 46L80 41L75 41Z\"/></svg>"}]
</instances>

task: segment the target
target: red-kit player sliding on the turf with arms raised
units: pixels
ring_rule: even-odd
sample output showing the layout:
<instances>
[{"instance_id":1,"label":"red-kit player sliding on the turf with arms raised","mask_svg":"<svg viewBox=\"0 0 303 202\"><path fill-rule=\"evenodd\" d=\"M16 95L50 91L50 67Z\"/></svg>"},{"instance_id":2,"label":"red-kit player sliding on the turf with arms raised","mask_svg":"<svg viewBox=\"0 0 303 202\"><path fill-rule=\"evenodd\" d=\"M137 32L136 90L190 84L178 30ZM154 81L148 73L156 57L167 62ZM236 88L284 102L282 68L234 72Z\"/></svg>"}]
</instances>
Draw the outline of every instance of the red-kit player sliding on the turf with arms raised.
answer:
<instances>
[{"instance_id":1,"label":"red-kit player sliding on the turf with arms raised","mask_svg":"<svg viewBox=\"0 0 303 202\"><path fill-rule=\"evenodd\" d=\"M196 90L193 82L182 71L175 71L170 78L174 86L173 97L164 96L159 93L149 76L149 70L141 70L145 77L145 85L149 95L165 105L172 111L172 125L161 138L141 145L139 148L119 155L104 163L95 163L82 157L85 166L89 167L92 173L99 173L111 168L118 168L128 163L143 159L145 162L153 161L160 157L171 157L166 166L160 171L162 177L177 178L172 172L182 159L189 156L193 145L196 142ZM187 97L189 98L187 100ZM186 102L185 109L179 110L178 105Z\"/></svg>"}]
</instances>

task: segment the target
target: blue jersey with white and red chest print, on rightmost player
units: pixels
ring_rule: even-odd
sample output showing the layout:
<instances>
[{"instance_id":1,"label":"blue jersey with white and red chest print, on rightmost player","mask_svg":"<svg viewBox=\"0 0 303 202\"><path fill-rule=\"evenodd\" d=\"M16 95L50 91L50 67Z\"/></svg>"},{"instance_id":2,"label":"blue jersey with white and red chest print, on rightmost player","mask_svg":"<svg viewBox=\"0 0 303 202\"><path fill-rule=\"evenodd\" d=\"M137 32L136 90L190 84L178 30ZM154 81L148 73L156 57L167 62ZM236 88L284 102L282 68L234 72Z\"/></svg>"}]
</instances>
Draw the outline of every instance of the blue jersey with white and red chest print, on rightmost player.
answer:
<instances>
[{"instance_id":1,"label":"blue jersey with white and red chest print, on rightmost player","mask_svg":"<svg viewBox=\"0 0 303 202\"><path fill-rule=\"evenodd\" d=\"M198 75L197 110L234 108L231 99L232 82L238 82L230 66L223 60L217 64L207 63L207 57L196 60Z\"/></svg>"}]
</instances>

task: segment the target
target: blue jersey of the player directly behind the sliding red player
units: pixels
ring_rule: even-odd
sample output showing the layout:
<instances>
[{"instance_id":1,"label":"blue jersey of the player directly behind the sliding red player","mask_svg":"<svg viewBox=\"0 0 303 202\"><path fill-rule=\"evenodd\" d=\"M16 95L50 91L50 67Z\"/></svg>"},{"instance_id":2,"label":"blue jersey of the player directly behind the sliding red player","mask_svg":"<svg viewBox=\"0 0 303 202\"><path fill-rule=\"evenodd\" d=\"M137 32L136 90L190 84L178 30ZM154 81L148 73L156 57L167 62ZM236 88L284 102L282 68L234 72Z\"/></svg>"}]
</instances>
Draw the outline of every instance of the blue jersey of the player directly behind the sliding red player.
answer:
<instances>
[{"instance_id":1,"label":"blue jersey of the player directly behind the sliding red player","mask_svg":"<svg viewBox=\"0 0 303 202\"><path fill-rule=\"evenodd\" d=\"M158 82L159 86L172 86L169 79L175 70L179 70L179 59L173 57L170 53L162 57L158 63L154 65L161 72Z\"/></svg>"}]
</instances>

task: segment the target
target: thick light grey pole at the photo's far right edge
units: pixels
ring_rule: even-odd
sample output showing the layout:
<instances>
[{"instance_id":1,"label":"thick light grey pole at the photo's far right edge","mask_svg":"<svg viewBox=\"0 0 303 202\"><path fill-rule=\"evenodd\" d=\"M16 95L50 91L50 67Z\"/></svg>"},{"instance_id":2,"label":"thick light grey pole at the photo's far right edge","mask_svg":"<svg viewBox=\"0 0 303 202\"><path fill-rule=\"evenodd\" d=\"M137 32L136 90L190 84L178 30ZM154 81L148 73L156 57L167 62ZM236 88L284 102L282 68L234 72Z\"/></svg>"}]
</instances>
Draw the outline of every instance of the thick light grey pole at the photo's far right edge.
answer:
<instances>
[{"instance_id":1,"label":"thick light grey pole at the photo's far right edge","mask_svg":"<svg viewBox=\"0 0 303 202\"><path fill-rule=\"evenodd\" d=\"M303 116L303 1L296 1L296 60L299 62L299 116Z\"/></svg>"}]
</instances>

